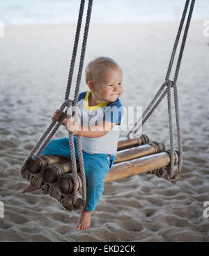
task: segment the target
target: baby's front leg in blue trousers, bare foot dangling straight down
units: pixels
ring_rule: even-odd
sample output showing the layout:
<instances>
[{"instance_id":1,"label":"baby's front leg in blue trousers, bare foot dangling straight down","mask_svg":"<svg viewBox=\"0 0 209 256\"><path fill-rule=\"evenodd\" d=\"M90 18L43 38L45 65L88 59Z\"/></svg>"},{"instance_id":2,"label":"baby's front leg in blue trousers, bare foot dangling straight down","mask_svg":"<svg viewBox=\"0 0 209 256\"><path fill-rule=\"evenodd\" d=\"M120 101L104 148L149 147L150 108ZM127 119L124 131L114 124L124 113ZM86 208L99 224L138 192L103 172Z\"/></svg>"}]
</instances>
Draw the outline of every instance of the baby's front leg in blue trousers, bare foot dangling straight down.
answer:
<instances>
[{"instance_id":1,"label":"baby's front leg in blue trousers, bare foot dangling straight down","mask_svg":"<svg viewBox=\"0 0 209 256\"><path fill-rule=\"evenodd\" d=\"M77 223L77 230L88 230L91 224L91 214L104 191L104 179L109 170L109 161L104 154L87 154L84 152L84 167L86 172L86 206Z\"/></svg>"}]
</instances>

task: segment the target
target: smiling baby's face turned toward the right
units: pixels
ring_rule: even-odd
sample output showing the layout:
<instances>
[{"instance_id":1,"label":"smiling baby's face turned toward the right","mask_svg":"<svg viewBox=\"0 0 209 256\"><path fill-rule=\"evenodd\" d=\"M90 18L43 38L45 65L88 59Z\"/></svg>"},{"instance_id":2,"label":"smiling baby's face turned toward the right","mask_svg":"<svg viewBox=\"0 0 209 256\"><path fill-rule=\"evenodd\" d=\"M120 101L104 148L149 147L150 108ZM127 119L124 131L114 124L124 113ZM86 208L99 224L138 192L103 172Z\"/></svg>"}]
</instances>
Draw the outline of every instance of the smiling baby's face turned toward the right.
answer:
<instances>
[{"instance_id":1,"label":"smiling baby's face turned toward the right","mask_svg":"<svg viewBox=\"0 0 209 256\"><path fill-rule=\"evenodd\" d=\"M95 97L100 101L115 102L123 93L123 71L109 68L95 83Z\"/></svg>"}]
</instances>

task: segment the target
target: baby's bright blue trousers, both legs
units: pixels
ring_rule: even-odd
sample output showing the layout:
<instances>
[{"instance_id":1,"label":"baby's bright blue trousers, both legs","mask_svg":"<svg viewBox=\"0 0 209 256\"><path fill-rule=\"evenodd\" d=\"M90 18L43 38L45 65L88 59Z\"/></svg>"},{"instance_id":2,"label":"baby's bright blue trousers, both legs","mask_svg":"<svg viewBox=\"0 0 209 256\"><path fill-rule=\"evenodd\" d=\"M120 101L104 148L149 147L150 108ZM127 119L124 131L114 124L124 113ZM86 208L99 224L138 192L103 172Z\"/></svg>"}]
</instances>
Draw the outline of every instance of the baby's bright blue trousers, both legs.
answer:
<instances>
[{"instance_id":1,"label":"baby's bright blue trousers, both legs","mask_svg":"<svg viewBox=\"0 0 209 256\"><path fill-rule=\"evenodd\" d=\"M78 159L77 140L74 138L75 156ZM56 138L46 145L41 154L56 154L70 159L69 138ZM102 192L104 191L104 179L113 165L116 155L89 154L83 151L84 168L86 173L86 206L88 211L94 211Z\"/></svg>"}]
</instances>

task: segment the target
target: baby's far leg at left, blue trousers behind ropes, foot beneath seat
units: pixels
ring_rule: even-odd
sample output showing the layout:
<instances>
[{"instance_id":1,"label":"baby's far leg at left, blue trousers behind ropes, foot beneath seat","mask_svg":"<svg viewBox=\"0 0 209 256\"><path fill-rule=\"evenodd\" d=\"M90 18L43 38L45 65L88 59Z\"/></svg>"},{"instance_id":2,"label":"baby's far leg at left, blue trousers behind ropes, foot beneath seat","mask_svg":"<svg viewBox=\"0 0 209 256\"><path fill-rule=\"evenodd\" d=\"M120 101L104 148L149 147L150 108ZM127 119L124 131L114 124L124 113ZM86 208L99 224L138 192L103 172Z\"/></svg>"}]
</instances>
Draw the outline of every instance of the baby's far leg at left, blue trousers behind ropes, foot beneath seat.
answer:
<instances>
[{"instance_id":1,"label":"baby's far leg at left, blue trousers behind ropes, foot beneath seat","mask_svg":"<svg viewBox=\"0 0 209 256\"><path fill-rule=\"evenodd\" d=\"M77 145L76 145L76 136L74 136L74 145L75 145L75 153L77 157ZM42 150L41 155L45 154L51 154L51 155L57 155L60 157L66 157L70 159L70 145L69 145L69 138L56 138L49 141L49 143L46 145L45 149ZM29 184L29 186L26 186L25 189L21 193L29 193L32 191L36 191L38 188L36 186L33 186Z\"/></svg>"}]
</instances>

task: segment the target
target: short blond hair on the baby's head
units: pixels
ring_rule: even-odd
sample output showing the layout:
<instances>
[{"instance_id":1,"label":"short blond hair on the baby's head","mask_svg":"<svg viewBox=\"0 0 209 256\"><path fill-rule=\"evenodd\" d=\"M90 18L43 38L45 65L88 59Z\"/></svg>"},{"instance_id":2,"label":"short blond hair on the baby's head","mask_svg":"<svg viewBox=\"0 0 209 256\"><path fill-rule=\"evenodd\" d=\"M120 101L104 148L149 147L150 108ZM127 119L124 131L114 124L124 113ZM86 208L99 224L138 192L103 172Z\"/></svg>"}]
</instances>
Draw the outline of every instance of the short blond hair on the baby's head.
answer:
<instances>
[{"instance_id":1,"label":"short blond hair on the baby's head","mask_svg":"<svg viewBox=\"0 0 209 256\"><path fill-rule=\"evenodd\" d=\"M112 58L100 56L88 63L85 70L86 83L88 81L98 81L98 78L103 72L106 72L109 68L117 68L121 70L121 67Z\"/></svg>"}]
</instances>

